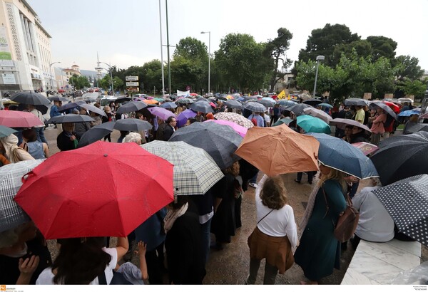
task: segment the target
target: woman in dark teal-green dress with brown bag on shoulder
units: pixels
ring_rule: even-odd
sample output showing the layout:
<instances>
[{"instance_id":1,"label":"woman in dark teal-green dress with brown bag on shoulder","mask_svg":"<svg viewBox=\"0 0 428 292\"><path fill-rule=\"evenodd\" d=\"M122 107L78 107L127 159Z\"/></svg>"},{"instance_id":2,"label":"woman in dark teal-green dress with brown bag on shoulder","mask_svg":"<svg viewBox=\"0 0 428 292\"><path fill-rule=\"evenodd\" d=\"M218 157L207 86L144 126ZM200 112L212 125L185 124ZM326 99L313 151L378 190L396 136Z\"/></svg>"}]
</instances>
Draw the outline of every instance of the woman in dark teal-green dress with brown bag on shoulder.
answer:
<instances>
[{"instance_id":1,"label":"woman in dark teal-green dress with brown bag on shoulder","mask_svg":"<svg viewBox=\"0 0 428 292\"><path fill-rule=\"evenodd\" d=\"M346 208L344 173L325 165L320 165L320 173L300 224L303 233L295 252L295 263L302 268L309 284L317 284L331 275L333 268L340 268L340 242L333 231Z\"/></svg>"}]
</instances>

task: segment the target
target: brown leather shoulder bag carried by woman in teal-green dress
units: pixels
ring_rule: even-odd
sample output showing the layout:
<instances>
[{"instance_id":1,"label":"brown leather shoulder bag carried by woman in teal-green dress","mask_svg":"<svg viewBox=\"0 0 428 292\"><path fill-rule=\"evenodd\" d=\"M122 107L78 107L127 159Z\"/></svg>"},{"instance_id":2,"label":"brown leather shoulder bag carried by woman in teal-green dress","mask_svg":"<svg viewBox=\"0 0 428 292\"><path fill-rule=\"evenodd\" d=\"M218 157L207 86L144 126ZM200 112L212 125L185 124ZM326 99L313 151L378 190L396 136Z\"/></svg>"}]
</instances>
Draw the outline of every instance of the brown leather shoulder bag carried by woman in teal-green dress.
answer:
<instances>
[{"instance_id":1,"label":"brown leather shoulder bag carried by woman in teal-green dress","mask_svg":"<svg viewBox=\"0 0 428 292\"><path fill-rule=\"evenodd\" d=\"M322 194L324 194L325 204L327 206L327 212L329 207L327 204L327 196L325 195L325 190L322 188ZM346 200L346 209L337 219L337 224L332 219L333 226L335 226L335 237L340 242L345 242L351 239L354 235L355 229L357 229L358 219L360 219L360 212L357 209L352 207L352 201L350 196L345 195ZM327 212L325 214L327 214Z\"/></svg>"}]
</instances>

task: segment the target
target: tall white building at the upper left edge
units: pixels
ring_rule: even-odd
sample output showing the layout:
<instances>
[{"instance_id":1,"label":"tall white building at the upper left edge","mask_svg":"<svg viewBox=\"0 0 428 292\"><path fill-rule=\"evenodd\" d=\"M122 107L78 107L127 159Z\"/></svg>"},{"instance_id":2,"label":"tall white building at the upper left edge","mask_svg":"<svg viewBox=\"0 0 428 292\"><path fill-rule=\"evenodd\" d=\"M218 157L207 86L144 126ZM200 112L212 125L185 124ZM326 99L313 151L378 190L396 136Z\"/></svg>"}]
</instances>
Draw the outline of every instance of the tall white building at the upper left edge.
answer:
<instances>
[{"instance_id":1,"label":"tall white building at the upper left edge","mask_svg":"<svg viewBox=\"0 0 428 292\"><path fill-rule=\"evenodd\" d=\"M0 0L0 90L56 90L51 36L25 0Z\"/></svg>"}]
</instances>

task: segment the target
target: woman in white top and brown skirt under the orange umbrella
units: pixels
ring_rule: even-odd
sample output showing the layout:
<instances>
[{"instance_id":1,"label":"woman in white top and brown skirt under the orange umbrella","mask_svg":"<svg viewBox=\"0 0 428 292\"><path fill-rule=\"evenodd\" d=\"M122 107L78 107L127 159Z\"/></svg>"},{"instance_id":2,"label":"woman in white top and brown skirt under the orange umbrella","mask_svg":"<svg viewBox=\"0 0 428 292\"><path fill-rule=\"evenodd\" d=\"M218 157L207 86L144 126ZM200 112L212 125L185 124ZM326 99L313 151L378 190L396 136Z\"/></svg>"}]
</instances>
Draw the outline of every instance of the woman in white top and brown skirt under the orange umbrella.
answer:
<instances>
[{"instance_id":1,"label":"woman in white top and brown skirt under the orange umbrella","mask_svg":"<svg viewBox=\"0 0 428 292\"><path fill-rule=\"evenodd\" d=\"M294 263L292 247L297 246L297 227L287 191L281 177L267 177L255 189L258 224L248 237L250 274L246 283L254 284L261 259L266 259L264 284L275 284Z\"/></svg>"}]
</instances>

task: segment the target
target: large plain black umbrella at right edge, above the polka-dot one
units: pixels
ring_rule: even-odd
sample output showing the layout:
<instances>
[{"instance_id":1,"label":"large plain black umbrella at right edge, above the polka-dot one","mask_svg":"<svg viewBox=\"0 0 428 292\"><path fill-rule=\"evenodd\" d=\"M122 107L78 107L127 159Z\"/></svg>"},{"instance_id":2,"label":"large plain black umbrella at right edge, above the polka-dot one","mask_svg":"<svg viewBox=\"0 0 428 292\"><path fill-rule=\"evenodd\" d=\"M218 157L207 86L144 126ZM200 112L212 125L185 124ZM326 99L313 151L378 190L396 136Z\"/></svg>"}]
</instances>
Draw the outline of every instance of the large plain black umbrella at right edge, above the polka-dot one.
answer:
<instances>
[{"instance_id":1,"label":"large plain black umbrella at right edge, above the polka-dot one","mask_svg":"<svg viewBox=\"0 0 428 292\"><path fill-rule=\"evenodd\" d=\"M383 140L372 156L383 185L417 174L428 174L428 132L397 135Z\"/></svg>"}]
</instances>

